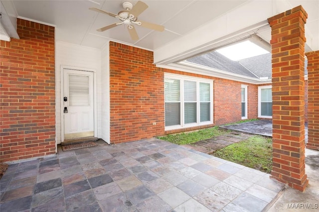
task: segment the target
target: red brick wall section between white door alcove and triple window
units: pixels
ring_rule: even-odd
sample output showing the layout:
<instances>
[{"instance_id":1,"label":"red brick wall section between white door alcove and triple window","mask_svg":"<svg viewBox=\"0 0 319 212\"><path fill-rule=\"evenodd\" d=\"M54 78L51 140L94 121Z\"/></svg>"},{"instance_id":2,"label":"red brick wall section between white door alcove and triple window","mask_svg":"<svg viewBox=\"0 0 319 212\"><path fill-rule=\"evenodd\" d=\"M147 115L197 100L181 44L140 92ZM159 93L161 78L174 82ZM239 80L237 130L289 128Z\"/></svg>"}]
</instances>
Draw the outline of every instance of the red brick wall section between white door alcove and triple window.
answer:
<instances>
[{"instance_id":1,"label":"red brick wall section between white door alcove and triple window","mask_svg":"<svg viewBox=\"0 0 319 212\"><path fill-rule=\"evenodd\" d=\"M111 143L164 134L163 83L153 52L110 42Z\"/></svg>"}]
</instances>

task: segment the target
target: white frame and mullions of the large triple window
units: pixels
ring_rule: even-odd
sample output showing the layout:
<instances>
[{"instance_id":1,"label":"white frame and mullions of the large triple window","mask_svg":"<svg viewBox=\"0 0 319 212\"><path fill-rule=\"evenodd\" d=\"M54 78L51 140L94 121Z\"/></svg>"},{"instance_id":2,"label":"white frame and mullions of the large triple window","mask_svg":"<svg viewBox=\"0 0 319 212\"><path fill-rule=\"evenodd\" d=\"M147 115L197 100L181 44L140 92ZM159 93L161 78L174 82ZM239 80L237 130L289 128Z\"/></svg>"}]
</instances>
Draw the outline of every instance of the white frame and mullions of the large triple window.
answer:
<instances>
[{"instance_id":1,"label":"white frame and mullions of the large triple window","mask_svg":"<svg viewBox=\"0 0 319 212\"><path fill-rule=\"evenodd\" d=\"M199 77L185 76L173 73L164 73L164 78L178 79L180 82L180 125L165 126L165 131L176 130L182 128L196 127L202 125L213 124L213 81L212 79L205 79ZM184 124L184 80L196 81L196 123ZM199 99L199 82L210 84L210 121L200 122L200 99ZM164 100L165 101L165 100Z\"/></svg>"}]
</instances>

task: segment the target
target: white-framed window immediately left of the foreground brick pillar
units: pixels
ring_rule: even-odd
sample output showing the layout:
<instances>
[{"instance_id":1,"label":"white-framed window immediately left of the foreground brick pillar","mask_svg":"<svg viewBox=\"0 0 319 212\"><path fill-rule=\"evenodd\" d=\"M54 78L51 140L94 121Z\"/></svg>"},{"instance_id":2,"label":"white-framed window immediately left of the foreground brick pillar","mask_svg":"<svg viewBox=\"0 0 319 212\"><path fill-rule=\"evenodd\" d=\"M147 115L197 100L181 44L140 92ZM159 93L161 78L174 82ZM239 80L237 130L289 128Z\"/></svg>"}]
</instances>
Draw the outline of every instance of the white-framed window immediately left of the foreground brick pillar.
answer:
<instances>
[{"instance_id":1,"label":"white-framed window immediately left of the foreground brick pillar","mask_svg":"<svg viewBox=\"0 0 319 212\"><path fill-rule=\"evenodd\" d=\"M272 89L269 86L258 87L258 117L272 118L273 116L273 101Z\"/></svg>"}]
</instances>

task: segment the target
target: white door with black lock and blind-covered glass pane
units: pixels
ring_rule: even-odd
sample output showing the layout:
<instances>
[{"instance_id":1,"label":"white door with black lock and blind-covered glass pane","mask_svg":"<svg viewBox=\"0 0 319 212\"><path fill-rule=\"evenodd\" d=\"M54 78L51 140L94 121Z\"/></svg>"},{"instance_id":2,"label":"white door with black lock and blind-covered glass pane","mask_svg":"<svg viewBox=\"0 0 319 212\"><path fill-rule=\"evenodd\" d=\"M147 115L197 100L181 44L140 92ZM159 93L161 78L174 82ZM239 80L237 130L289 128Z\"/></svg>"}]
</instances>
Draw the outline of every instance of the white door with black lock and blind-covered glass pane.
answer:
<instances>
[{"instance_id":1,"label":"white door with black lock and blind-covered glass pane","mask_svg":"<svg viewBox=\"0 0 319 212\"><path fill-rule=\"evenodd\" d=\"M94 136L93 72L63 72L64 140Z\"/></svg>"}]
</instances>

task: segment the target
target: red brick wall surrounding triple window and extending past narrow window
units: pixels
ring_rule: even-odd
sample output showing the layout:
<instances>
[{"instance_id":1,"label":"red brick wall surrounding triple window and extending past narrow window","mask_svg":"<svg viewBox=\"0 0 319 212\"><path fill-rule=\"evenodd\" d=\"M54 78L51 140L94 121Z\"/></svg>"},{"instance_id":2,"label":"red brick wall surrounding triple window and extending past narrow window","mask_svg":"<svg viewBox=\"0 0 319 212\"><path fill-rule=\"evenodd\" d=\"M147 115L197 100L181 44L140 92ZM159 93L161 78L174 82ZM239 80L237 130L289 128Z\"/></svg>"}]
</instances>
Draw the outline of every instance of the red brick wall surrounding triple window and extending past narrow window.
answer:
<instances>
[{"instance_id":1,"label":"red brick wall surrounding triple window and extending past narrow window","mask_svg":"<svg viewBox=\"0 0 319 212\"><path fill-rule=\"evenodd\" d=\"M187 73L168 69L164 69L164 72L214 80L214 125L223 125L241 120L241 85L246 84L248 85L248 119L257 118L257 85L255 84L247 84L229 79L222 79L201 74ZM196 130L203 127L210 126L201 126L199 128L196 127L187 130ZM185 130L174 131L174 133L182 131Z\"/></svg>"}]
</instances>

